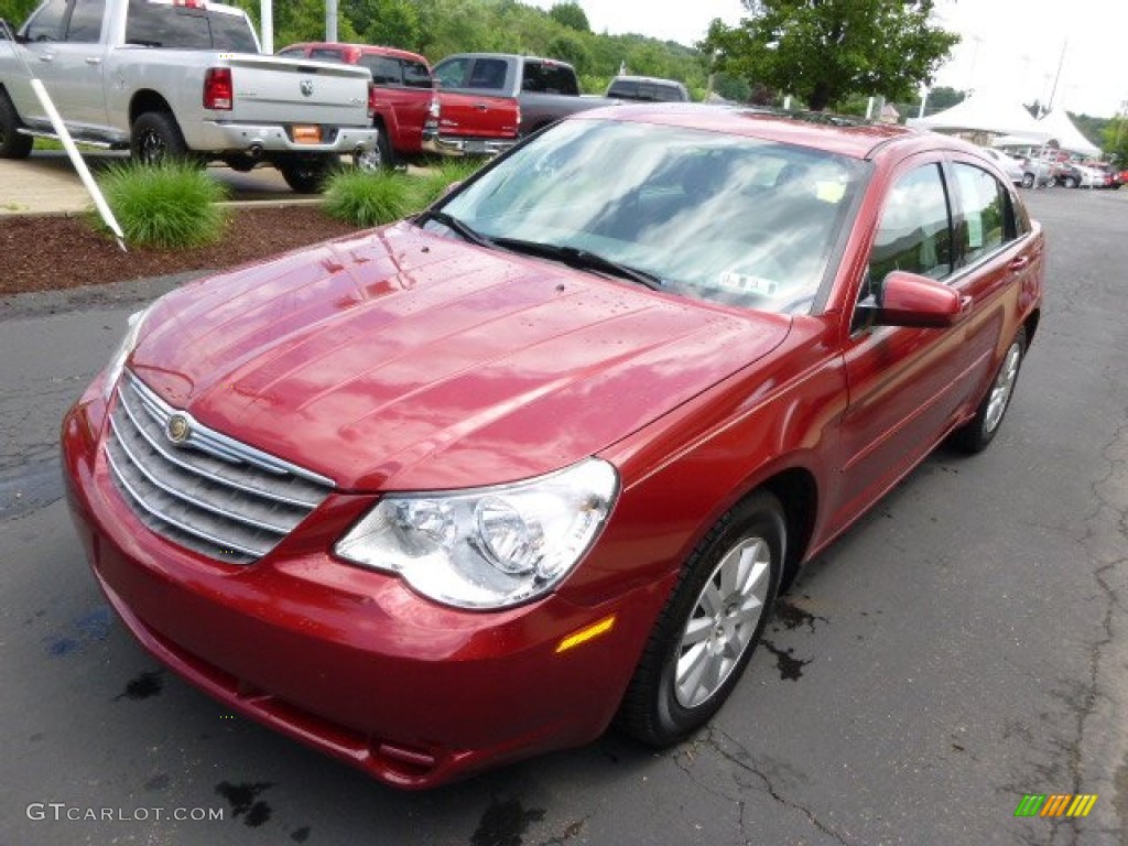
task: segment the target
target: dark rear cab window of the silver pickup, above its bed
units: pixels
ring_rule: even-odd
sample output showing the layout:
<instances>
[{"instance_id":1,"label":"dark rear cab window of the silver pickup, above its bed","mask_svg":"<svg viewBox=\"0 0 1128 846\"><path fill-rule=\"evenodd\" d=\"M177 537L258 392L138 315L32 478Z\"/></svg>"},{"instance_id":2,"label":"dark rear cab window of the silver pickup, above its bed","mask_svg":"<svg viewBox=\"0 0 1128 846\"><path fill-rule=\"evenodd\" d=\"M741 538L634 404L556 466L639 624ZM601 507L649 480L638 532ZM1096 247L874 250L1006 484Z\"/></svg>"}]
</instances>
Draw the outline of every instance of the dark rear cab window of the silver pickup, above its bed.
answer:
<instances>
[{"instance_id":1,"label":"dark rear cab window of the silver pickup, above its bed","mask_svg":"<svg viewBox=\"0 0 1128 846\"><path fill-rule=\"evenodd\" d=\"M183 6L130 0L125 42L149 47L257 53L246 18Z\"/></svg>"}]
</instances>

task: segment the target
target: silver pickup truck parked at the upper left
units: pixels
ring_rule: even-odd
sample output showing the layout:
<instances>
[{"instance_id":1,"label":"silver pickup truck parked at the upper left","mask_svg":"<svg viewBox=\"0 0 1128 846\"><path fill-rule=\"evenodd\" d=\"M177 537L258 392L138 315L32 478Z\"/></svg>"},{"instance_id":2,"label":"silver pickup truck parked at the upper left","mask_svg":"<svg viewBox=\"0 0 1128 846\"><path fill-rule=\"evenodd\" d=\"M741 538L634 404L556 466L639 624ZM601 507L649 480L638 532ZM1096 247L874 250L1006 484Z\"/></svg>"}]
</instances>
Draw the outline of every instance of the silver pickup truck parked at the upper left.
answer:
<instances>
[{"instance_id":1,"label":"silver pickup truck parked at the upper left","mask_svg":"<svg viewBox=\"0 0 1128 846\"><path fill-rule=\"evenodd\" d=\"M0 158L53 136L33 76L76 141L141 161L267 161L312 192L376 144L367 69L262 55L246 14L210 0L45 0L0 35Z\"/></svg>"}]
</instances>

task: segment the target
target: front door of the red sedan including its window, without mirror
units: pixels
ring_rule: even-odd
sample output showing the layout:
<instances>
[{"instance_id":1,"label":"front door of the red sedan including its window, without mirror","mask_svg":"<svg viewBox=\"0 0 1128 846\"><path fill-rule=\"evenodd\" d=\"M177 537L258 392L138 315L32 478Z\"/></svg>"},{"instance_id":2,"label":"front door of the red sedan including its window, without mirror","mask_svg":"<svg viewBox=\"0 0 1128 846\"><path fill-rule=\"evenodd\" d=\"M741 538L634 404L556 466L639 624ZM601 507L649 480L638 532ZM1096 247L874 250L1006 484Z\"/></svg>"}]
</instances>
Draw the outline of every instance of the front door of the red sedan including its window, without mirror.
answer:
<instances>
[{"instance_id":1,"label":"front door of the red sedan including its window, without mirror","mask_svg":"<svg viewBox=\"0 0 1128 846\"><path fill-rule=\"evenodd\" d=\"M913 157L895 173L882 203L844 349L848 405L837 521L856 517L932 449L967 396L959 332L866 319L891 271L951 279L957 250L950 179L938 155Z\"/></svg>"}]
</instances>

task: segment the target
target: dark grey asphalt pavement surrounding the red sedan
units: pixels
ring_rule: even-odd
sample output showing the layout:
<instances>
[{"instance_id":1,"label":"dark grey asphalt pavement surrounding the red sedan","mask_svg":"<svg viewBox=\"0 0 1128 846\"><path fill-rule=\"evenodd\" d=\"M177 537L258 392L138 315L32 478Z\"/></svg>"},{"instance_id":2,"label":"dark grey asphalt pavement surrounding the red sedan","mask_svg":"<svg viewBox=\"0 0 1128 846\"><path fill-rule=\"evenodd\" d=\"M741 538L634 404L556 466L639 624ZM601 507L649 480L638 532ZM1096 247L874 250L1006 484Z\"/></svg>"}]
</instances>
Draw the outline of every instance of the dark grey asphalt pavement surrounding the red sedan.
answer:
<instances>
[{"instance_id":1,"label":"dark grey asphalt pavement surrounding the red sedan","mask_svg":"<svg viewBox=\"0 0 1128 846\"><path fill-rule=\"evenodd\" d=\"M0 844L1128 843L1128 191L1025 196L1047 302L990 449L941 448L820 556L693 741L430 793L226 713L89 575L59 421L173 282L0 301Z\"/></svg>"}]
</instances>

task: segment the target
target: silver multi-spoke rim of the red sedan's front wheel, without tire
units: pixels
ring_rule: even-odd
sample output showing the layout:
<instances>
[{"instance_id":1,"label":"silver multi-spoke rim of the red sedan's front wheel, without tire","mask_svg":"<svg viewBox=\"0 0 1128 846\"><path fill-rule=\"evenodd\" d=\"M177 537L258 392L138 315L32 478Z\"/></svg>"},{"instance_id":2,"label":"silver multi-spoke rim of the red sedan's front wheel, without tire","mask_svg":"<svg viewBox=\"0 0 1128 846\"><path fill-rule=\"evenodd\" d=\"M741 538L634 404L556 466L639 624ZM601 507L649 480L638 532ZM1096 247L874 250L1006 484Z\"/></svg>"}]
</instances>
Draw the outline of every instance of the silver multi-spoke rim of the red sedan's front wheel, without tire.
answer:
<instances>
[{"instance_id":1,"label":"silver multi-spoke rim of the red sedan's front wheel, without tire","mask_svg":"<svg viewBox=\"0 0 1128 846\"><path fill-rule=\"evenodd\" d=\"M751 643L770 588L772 548L744 538L724 554L694 605L681 633L673 680L684 708L715 694Z\"/></svg>"}]
</instances>

